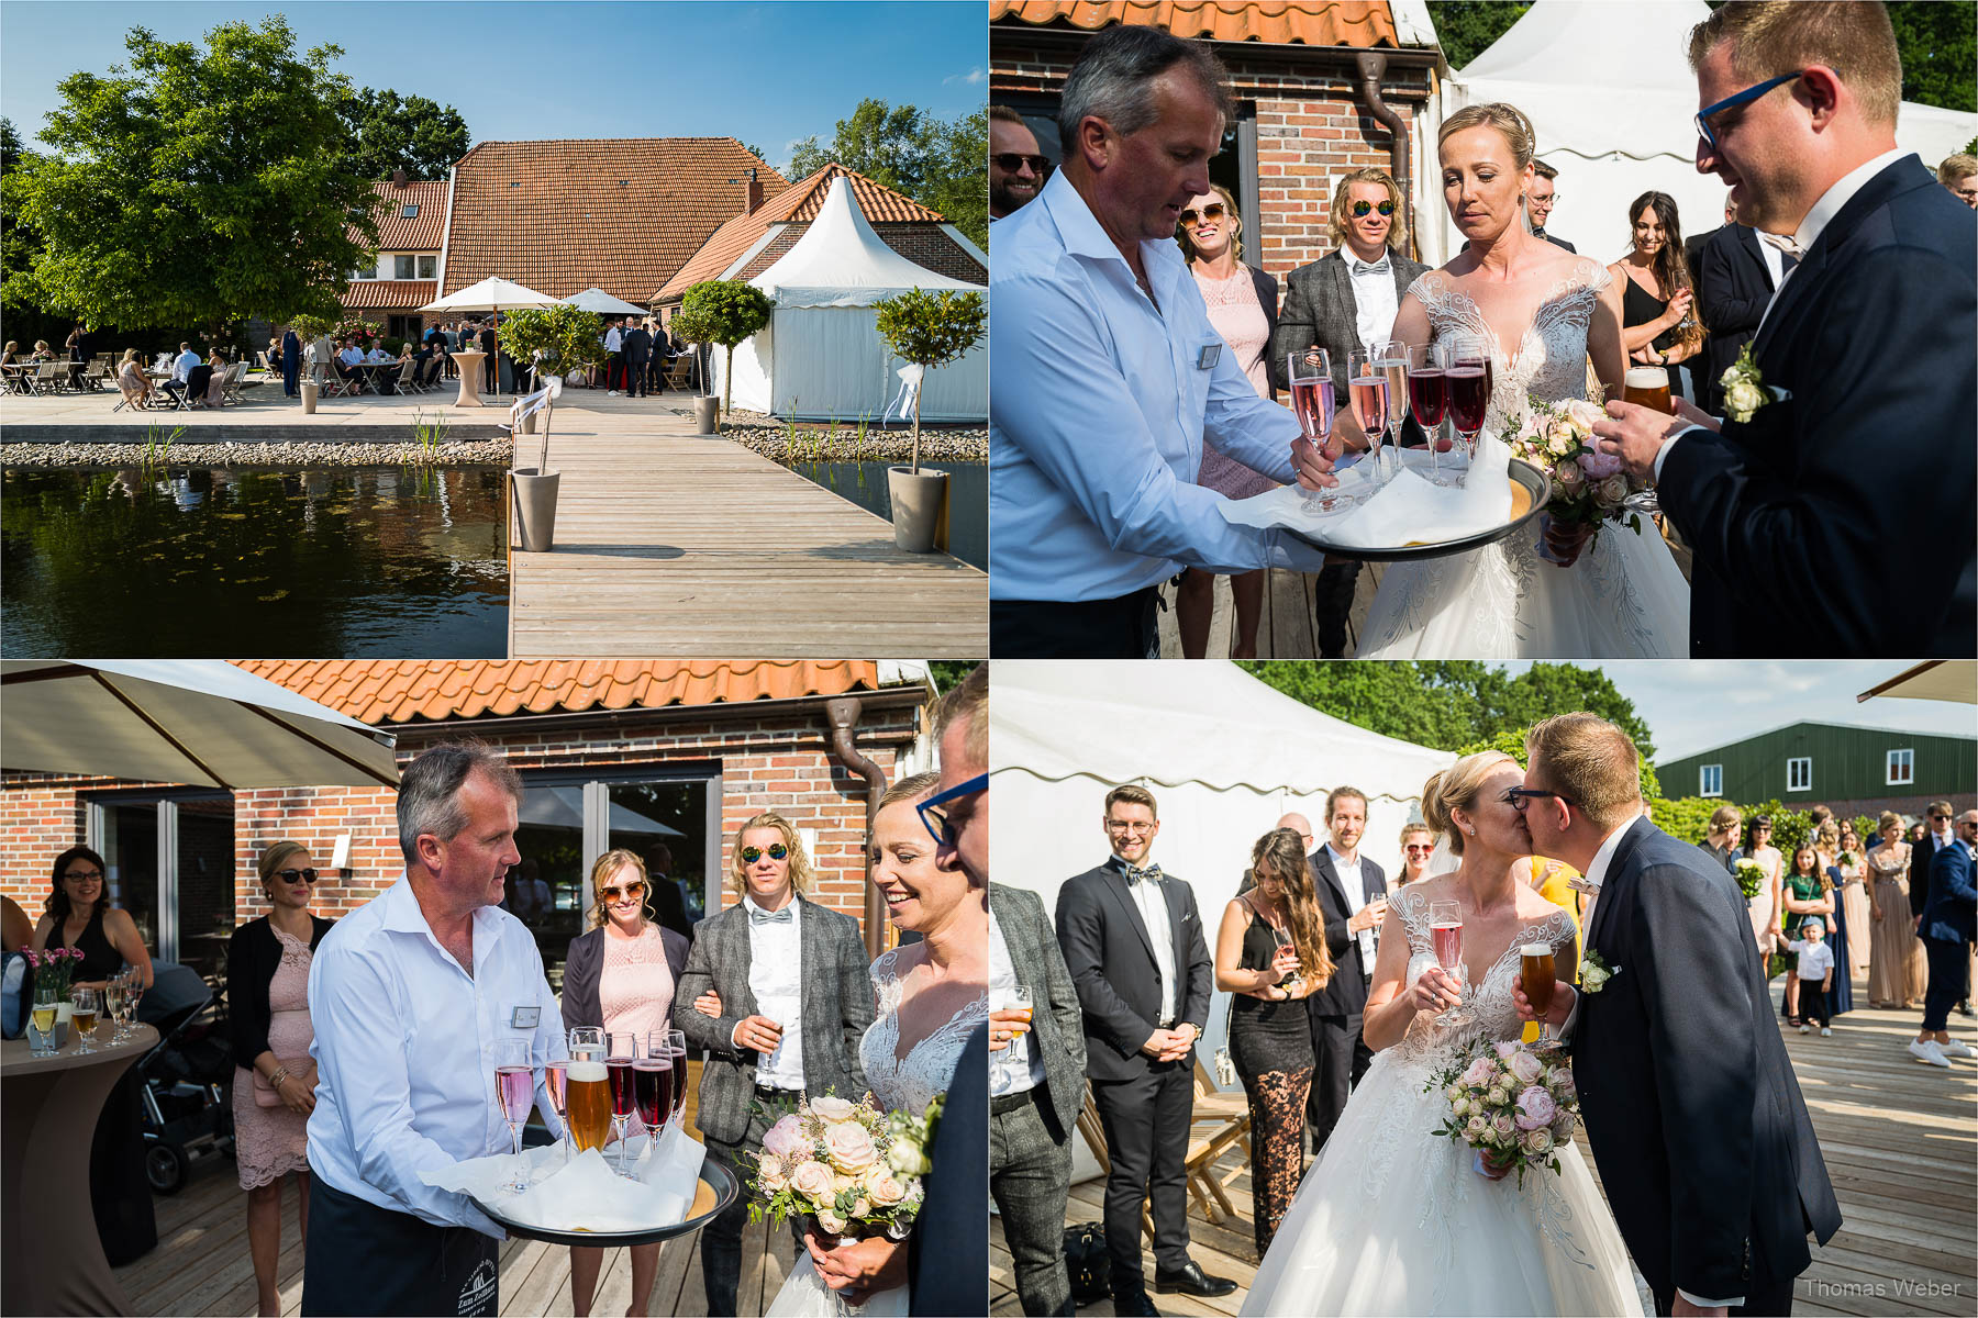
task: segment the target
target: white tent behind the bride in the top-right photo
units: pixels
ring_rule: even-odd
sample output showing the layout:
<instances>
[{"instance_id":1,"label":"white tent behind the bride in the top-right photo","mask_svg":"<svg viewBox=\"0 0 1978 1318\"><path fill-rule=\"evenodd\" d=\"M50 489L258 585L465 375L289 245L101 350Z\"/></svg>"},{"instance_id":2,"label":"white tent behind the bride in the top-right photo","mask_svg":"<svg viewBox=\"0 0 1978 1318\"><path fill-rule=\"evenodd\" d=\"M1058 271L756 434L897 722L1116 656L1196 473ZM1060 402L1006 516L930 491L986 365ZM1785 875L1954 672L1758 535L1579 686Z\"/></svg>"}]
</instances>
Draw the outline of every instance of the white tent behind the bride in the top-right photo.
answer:
<instances>
[{"instance_id":1,"label":"white tent behind the bride in the top-right photo","mask_svg":"<svg viewBox=\"0 0 1978 1318\"><path fill-rule=\"evenodd\" d=\"M1537 0L1489 49L1442 87L1434 123L1418 134L1416 223L1422 259L1440 265L1462 247L1442 206L1434 140L1440 121L1466 105L1509 101L1531 117L1539 158L1559 170L1559 204L1547 223L1582 255L1616 261L1628 249L1628 204L1667 192L1683 235L1723 223L1725 188L1697 174L1697 79L1689 30L1709 16L1703 0L1586 4ZM1978 136L1978 115L1905 101L1895 140L1931 170Z\"/></svg>"}]
</instances>

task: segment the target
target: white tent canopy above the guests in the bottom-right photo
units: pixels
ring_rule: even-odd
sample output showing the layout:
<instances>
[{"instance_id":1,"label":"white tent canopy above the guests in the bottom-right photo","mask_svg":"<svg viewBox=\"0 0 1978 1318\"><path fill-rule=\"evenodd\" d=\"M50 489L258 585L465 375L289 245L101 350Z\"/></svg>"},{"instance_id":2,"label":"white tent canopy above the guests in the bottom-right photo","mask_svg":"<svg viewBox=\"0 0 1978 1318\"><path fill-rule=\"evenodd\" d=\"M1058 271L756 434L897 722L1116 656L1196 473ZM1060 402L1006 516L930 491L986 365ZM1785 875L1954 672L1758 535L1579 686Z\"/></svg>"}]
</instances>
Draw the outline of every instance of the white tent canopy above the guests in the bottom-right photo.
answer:
<instances>
[{"instance_id":1,"label":"white tent canopy above the guests in the bottom-right photo","mask_svg":"<svg viewBox=\"0 0 1978 1318\"><path fill-rule=\"evenodd\" d=\"M1327 792L1361 788L1369 798L1361 854L1393 877L1400 826L1420 818L1428 775L1452 763L1448 751L1319 713L1226 660L997 660L995 881L1027 887L1054 911L1064 879L1106 860L1106 792L1137 783L1159 802L1153 860L1195 889L1213 954L1250 846L1282 814L1304 814L1323 838ZM1205 1057L1222 1043L1226 1000L1218 992L1211 1006Z\"/></svg>"}]
</instances>

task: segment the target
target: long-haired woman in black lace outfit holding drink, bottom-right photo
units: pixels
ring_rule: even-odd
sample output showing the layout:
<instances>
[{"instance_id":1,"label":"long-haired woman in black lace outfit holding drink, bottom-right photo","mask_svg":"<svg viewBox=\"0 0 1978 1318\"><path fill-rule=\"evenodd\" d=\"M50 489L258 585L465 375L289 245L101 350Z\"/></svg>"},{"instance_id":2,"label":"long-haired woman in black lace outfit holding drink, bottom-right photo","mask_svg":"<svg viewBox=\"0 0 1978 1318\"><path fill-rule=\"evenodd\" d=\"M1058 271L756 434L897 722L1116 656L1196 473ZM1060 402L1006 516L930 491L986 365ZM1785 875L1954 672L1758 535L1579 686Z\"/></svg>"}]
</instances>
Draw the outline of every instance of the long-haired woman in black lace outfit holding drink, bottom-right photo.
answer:
<instances>
[{"instance_id":1,"label":"long-haired woman in black lace outfit holding drink, bottom-right photo","mask_svg":"<svg viewBox=\"0 0 1978 1318\"><path fill-rule=\"evenodd\" d=\"M1262 1259L1304 1174L1311 1018L1305 998L1333 974L1305 840L1274 828L1250 848L1256 887L1222 911L1216 988L1230 998L1230 1059L1250 1097L1250 1192Z\"/></svg>"}]
</instances>

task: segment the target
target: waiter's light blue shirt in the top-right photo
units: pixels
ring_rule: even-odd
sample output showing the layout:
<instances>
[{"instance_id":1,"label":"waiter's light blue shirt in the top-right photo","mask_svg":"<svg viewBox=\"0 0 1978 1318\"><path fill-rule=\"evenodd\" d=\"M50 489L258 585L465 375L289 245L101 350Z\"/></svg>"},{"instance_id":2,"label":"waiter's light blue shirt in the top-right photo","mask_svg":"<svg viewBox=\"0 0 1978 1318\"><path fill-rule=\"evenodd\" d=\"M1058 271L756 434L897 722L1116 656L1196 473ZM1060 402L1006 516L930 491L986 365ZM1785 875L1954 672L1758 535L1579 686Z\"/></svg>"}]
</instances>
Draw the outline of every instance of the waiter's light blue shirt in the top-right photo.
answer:
<instances>
[{"instance_id":1,"label":"waiter's light blue shirt in the top-right photo","mask_svg":"<svg viewBox=\"0 0 1978 1318\"><path fill-rule=\"evenodd\" d=\"M1302 541L1232 526L1195 484L1205 441L1294 480L1300 429L1209 324L1181 249L1139 245L1149 300L1064 172L997 225L991 599L1118 599L1183 565L1317 571Z\"/></svg>"}]
</instances>

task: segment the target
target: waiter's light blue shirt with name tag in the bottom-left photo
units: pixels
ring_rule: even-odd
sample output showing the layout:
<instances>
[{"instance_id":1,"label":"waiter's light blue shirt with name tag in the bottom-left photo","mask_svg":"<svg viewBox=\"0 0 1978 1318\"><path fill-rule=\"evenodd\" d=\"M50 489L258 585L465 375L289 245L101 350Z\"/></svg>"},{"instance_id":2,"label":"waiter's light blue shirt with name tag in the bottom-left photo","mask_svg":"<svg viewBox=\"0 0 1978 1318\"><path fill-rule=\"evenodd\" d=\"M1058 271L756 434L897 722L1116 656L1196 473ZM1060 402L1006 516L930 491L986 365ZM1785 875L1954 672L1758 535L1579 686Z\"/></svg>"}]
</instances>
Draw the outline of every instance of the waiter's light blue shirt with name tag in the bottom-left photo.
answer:
<instances>
[{"instance_id":1,"label":"waiter's light blue shirt with name tag in the bottom-left photo","mask_svg":"<svg viewBox=\"0 0 1978 1318\"><path fill-rule=\"evenodd\" d=\"M322 937L309 964L318 1073L309 1170L366 1203L500 1239L467 1195L433 1190L419 1172L510 1152L496 1045L530 1039L546 1057L564 1016L518 919L481 907L473 931L469 974L400 879ZM516 1024L518 1008L534 1010L532 1026ZM562 1134L540 1077L536 1107Z\"/></svg>"}]
</instances>

